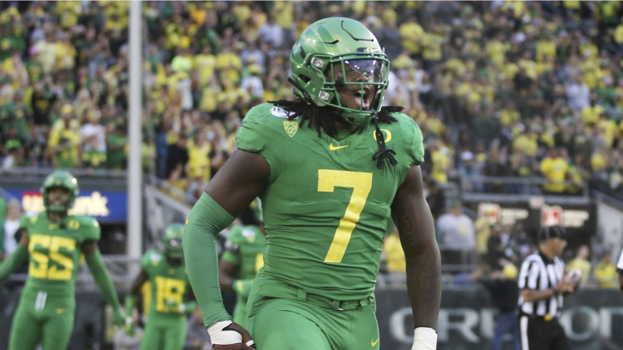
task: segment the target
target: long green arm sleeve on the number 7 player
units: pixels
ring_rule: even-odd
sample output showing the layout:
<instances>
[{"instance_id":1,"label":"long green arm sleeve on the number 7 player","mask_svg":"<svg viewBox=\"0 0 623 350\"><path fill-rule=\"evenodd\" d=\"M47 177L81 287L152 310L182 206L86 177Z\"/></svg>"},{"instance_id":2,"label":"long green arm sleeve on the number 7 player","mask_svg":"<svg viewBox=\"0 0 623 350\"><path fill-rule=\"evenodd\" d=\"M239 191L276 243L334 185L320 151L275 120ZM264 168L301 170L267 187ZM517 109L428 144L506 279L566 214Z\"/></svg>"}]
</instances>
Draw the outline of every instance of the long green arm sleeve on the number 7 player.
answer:
<instances>
[{"instance_id":1,"label":"long green arm sleeve on the number 7 player","mask_svg":"<svg viewBox=\"0 0 623 350\"><path fill-rule=\"evenodd\" d=\"M231 319L223 306L219 286L216 236L234 219L204 192L188 215L184 226L182 244L188 279L193 286L206 328L218 321Z\"/></svg>"}]
</instances>

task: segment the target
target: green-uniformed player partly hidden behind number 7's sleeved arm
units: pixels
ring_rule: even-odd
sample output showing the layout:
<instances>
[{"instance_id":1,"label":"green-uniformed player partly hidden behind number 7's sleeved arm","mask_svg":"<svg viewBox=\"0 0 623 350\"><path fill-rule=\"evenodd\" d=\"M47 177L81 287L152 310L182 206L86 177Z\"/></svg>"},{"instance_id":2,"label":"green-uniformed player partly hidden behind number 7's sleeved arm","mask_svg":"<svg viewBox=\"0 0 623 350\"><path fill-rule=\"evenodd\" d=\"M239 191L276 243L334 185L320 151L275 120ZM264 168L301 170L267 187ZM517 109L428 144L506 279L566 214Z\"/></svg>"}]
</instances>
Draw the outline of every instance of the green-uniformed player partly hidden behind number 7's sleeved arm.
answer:
<instances>
[{"instance_id":1,"label":"green-uniformed player partly hidden behind number 7's sleeved arm","mask_svg":"<svg viewBox=\"0 0 623 350\"><path fill-rule=\"evenodd\" d=\"M236 293L233 321L246 327L247 299L255 275L264 266L264 245L266 230L262 218L262 208L259 201L255 201L255 217L258 225L237 225L231 228L225 252L219 262L219 284L223 290L233 290Z\"/></svg>"}]
</instances>

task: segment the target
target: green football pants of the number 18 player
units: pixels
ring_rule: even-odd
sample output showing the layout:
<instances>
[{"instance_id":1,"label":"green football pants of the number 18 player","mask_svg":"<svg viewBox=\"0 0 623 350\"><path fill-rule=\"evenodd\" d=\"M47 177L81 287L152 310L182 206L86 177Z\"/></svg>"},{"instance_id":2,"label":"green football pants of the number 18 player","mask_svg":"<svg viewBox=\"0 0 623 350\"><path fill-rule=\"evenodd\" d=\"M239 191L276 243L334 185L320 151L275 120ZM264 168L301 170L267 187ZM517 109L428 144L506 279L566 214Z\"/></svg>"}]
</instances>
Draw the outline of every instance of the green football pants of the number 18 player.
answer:
<instances>
[{"instance_id":1,"label":"green football pants of the number 18 player","mask_svg":"<svg viewBox=\"0 0 623 350\"><path fill-rule=\"evenodd\" d=\"M182 350L186 343L186 316L159 317L150 313L141 350Z\"/></svg>"}]
</instances>

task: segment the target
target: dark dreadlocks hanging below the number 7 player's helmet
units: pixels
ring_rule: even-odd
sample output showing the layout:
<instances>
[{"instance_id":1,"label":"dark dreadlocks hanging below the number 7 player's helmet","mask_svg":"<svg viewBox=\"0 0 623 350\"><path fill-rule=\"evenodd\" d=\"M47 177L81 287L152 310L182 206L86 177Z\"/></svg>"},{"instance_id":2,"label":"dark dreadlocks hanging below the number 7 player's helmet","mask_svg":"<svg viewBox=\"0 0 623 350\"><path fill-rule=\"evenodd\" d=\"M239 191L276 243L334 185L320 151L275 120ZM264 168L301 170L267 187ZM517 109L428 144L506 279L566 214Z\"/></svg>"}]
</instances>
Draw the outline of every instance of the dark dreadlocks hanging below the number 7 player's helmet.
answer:
<instances>
[{"instance_id":1,"label":"dark dreadlocks hanging below the number 7 player's helmet","mask_svg":"<svg viewBox=\"0 0 623 350\"><path fill-rule=\"evenodd\" d=\"M338 134L338 130L335 128L333 121L340 120L340 111L329 106L316 106L313 103L308 104L303 98L297 97L294 101L290 100L278 100L269 101L273 105L281 106L284 110L293 112L288 115L288 120L296 119L300 117L299 125L302 128L307 122L310 128L315 128L320 136L321 131L325 131L326 135L335 137ZM379 113L373 116L370 123L393 123L398 121L391 116L391 113L402 111L404 108L400 106L384 106L381 107Z\"/></svg>"}]
</instances>

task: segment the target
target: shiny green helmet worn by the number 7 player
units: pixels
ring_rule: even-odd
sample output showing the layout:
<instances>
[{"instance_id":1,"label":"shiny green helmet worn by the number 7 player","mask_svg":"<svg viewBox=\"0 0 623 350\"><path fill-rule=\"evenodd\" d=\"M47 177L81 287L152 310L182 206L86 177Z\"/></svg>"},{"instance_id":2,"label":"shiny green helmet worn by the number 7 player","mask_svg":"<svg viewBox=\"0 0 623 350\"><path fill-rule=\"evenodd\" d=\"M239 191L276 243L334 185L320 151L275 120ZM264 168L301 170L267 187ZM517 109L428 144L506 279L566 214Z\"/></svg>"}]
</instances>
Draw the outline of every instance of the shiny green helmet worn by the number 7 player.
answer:
<instances>
[{"instance_id":1,"label":"shiny green helmet worn by the number 7 player","mask_svg":"<svg viewBox=\"0 0 623 350\"><path fill-rule=\"evenodd\" d=\"M337 108L351 125L369 123L373 113L381 110L389 60L374 34L354 19L330 17L311 24L292 47L290 65L290 82L299 97ZM359 87L362 103L358 109L348 108L340 97L338 88L346 85ZM366 85L376 88L368 110L363 109Z\"/></svg>"}]
</instances>

